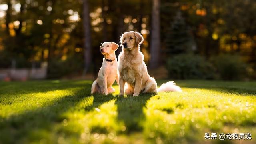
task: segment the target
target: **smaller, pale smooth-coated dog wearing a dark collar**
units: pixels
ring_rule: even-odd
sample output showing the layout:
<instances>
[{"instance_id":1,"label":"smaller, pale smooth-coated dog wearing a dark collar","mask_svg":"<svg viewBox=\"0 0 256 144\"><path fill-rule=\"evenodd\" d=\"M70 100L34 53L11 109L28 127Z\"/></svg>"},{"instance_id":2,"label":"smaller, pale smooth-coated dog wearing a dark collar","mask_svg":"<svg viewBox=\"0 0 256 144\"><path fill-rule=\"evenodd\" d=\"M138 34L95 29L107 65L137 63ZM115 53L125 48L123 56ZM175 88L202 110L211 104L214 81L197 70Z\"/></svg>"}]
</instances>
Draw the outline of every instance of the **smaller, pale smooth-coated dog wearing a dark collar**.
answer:
<instances>
[{"instance_id":1,"label":"smaller, pale smooth-coated dog wearing a dark collar","mask_svg":"<svg viewBox=\"0 0 256 144\"><path fill-rule=\"evenodd\" d=\"M115 80L119 86L118 78L118 62L116 59L115 51L118 48L118 44L114 42L104 42L100 46L100 52L104 55L102 67L98 73L97 79L92 83L91 94L100 93L100 94L110 94L115 92L115 89L112 87Z\"/></svg>"}]
</instances>

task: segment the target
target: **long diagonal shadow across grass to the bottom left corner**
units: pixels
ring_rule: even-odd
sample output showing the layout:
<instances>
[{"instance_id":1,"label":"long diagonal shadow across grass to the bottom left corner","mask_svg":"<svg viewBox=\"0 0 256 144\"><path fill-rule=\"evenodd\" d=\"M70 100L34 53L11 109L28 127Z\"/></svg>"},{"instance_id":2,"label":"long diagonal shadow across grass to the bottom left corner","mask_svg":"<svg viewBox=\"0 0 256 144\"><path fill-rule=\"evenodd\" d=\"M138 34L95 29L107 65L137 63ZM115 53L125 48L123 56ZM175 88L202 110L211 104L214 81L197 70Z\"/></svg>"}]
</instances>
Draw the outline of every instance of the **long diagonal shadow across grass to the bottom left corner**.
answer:
<instances>
[{"instance_id":1,"label":"long diagonal shadow across grass to the bottom left corner","mask_svg":"<svg viewBox=\"0 0 256 144\"><path fill-rule=\"evenodd\" d=\"M90 87L91 84L83 84L83 86ZM40 140L45 133L36 135L34 132L41 130L41 132L50 133L55 124L63 121L64 112L75 107L78 102L88 96L90 96L88 89L80 88L74 94L58 98L46 106L12 115L9 118L1 118L0 143L28 143L28 140Z\"/></svg>"}]
</instances>

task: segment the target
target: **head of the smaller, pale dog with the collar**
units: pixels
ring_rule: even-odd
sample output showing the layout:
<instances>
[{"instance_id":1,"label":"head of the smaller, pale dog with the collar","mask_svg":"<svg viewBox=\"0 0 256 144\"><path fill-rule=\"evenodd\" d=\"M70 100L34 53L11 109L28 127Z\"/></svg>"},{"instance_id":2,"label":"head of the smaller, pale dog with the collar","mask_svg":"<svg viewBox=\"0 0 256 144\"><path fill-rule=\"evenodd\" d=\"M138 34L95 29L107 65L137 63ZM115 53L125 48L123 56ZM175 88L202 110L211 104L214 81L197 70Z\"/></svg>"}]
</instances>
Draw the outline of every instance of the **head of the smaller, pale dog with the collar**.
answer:
<instances>
[{"instance_id":1,"label":"head of the smaller, pale dog with the collar","mask_svg":"<svg viewBox=\"0 0 256 144\"><path fill-rule=\"evenodd\" d=\"M104 42L100 46L100 52L102 54L113 54L118 48L118 44L114 42Z\"/></svg>"}]
</instances>

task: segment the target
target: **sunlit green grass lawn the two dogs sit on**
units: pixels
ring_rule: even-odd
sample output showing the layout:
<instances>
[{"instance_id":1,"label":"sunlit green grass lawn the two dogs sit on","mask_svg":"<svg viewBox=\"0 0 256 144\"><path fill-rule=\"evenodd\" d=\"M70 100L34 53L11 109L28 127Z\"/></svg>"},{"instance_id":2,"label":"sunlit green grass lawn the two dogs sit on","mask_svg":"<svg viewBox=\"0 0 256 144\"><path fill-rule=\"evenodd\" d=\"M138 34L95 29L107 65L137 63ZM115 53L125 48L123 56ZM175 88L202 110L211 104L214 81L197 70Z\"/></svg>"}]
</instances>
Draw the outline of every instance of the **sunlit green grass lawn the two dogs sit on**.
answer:
<instances>
[{"instance_id":1,"label":"sunlit green grass lawn the two dogs sit on","mask_svg":"<svg viewBox=\"0 0 256 144\"><path fill-rule=\"evenodd\" d=\"M167 80L158 81L158 86ZM92 81L0 82L0 144L256 143L256 82L179 80L183 92L90 94ZM205 132L252 140L204 140Z\"/></svg>"}]
</instances>

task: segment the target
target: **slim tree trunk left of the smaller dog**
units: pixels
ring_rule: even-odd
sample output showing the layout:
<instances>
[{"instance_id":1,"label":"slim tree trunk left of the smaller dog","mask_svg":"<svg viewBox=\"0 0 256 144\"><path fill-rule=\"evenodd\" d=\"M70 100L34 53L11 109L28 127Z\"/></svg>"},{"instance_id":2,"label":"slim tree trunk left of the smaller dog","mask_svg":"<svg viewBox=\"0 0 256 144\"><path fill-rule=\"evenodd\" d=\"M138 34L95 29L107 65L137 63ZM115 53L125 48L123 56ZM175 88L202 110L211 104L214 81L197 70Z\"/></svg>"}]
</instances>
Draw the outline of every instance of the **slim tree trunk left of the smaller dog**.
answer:
<instances>
[{"instance_id":1,"label":"slim tree trunk left of the smaller dog","mask_svg":"<svg viewBox=\"0 0 256 144\"><path fill-rule=\"evenodd\" d=\"M91 27L90 27L90 16L88 0L84 0L83 3L83 27L84 27L84 72L83 75L88 72L90 68L91 57Z\"/></svg>"}]
</instances>

